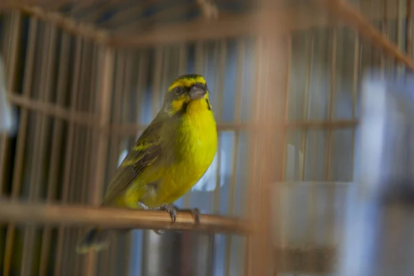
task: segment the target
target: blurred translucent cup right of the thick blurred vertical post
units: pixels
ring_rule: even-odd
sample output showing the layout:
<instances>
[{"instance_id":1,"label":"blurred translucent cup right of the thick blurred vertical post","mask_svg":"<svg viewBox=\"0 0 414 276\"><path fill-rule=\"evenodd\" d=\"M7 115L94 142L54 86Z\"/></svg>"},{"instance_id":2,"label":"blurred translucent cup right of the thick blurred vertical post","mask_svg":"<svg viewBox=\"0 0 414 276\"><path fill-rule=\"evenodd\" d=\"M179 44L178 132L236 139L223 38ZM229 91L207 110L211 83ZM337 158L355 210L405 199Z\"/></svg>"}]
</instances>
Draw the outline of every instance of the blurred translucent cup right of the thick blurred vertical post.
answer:
<instances>
[{"instance_id":1,"label":"blurred translucent cup right of the thick blurred vertical post","mask_svg":"<svg viewBox=\"0 0 414 276\"><path fill-rule=\"evenodd\" d=\"M355 185L284 182L270 188L272 239L278 273L334 273Z\"/></svg>"}]
</instances>

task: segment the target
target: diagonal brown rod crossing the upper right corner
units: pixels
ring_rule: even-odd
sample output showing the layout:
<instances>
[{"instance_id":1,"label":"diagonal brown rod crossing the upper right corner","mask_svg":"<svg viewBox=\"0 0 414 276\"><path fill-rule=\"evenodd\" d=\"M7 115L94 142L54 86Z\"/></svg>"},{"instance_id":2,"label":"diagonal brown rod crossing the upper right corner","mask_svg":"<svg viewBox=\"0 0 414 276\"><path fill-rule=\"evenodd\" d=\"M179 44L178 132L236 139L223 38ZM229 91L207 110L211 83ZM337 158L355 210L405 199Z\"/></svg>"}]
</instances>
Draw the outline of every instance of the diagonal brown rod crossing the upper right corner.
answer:
<instances>
[{"instance_id":1,"label":"diagonal brown rod crossing the upper right corner","mask_svg":"<svg viewBox=\"0 0 414 276\"><path fill-rule=\"evenodd\" d=\"M344 1L313 0L320 6L327 8L337 17L344 19L346 23L355 28L362 37L365 37L373 46L380 48L387 55L394 57L397 61L404 63L407 68L414 70L413 60L404 54L394 43L386 39L360 12Z\"/></svg>"}]
</instances>

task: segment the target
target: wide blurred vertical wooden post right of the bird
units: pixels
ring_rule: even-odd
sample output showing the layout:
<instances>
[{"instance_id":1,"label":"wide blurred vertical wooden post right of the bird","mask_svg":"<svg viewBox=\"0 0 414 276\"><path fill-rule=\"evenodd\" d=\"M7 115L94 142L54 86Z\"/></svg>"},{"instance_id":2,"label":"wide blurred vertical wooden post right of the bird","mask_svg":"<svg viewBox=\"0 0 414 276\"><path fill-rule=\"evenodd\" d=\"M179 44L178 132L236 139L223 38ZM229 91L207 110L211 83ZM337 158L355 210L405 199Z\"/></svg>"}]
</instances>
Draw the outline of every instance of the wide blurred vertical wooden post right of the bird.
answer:
<instances>
[{"instance_id":1,"label":"wide blurred vertical wooden post right of the bird","mask_svg":"<svg viewBox=\"0 0 414 276\"><path fill-rule=\"evenodd\" d=\"M253 124L265 123L275 124L277 121L282 121L280 118L281 112L275 112L273 108L275 103L281 102L281 96L284 95L284 79L274 76L281 76L286 70L285 66L275 60L282 59L286 52L284 51L284 43L280 39L279 33L275 31L272 37L266 39L262 55L262 69L257 71L257 81L262 83L260 88L255 90L255 106ZM270 75L271 74L271 75ZM270 77L271 76L271 77ZM271 83L271 86L268 85ZM266 89L267 87L275 87L276 90ZM283 103L284 101L282 101ZM283 113L282 113L283 114ZM280 132L279 132L280 133ZM254 275L269 275L271 272L270 255L272 254L270 237L270 204L268 201L268 188L279 178L277 171L275 172L275 164L278 164L280 157L276 158L276 152L281 149L281 141L279 133L265 133L262 132L253 140L251 151L256 155L256 163L250 166L250 170L255 177L250 186L255 186L253 190L253 210L254 217L251 216L255 223L255 232L252 235L252 270ZM282 133L283 135L283 133ZM253 135L255 136L255 135Z\"/></svg>"}]
</instances>

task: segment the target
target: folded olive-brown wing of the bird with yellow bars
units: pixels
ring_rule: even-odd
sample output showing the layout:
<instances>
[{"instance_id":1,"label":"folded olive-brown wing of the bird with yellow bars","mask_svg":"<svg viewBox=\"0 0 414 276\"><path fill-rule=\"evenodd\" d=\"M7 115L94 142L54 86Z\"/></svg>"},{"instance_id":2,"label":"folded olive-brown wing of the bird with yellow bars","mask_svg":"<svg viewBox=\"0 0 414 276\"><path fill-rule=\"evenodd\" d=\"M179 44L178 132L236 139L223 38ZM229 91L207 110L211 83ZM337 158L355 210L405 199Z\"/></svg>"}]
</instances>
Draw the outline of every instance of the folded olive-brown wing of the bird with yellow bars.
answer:
<instances>
[{"instance_id":1,"label":"folded olive-brown wing of the bird with yellow bars","mask_svg":"<svg viewBox=\"0 0 414 276\"><path fill-rule=\"evenodd\" d=\"M135 146L128 152L115 176L110 181L102 205L110 204L119 195L124 193L131 182L139 177L144 168L151 166L157 160L161 154L161 145L159 144L160 128L161 122L153 121L142 132Z\"/></svg>"}]
</instances>

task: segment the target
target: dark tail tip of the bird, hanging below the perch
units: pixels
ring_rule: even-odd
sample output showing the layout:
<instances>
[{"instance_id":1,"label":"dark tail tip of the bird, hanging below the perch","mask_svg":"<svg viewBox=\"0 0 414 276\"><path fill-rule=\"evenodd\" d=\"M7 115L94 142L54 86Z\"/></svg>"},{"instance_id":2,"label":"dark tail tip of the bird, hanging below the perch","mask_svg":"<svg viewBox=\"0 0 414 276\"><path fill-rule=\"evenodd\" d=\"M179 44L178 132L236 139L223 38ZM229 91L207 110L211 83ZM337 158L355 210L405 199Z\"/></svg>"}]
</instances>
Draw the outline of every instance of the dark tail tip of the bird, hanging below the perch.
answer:
<instances>
[{"instance_id":1,"label":"dark tail tip of the bird, hanging below the perch","mask_svg":"<svg viewBox=\"0 0 414 276\"><path fill-rule=\"evenodd\" d=\"M92 228L83 236L83 239L77 244L76 251L79 254L88 253L90 250L101 251L109 245L110 230Z\"/></svg>"}]
</instances>

